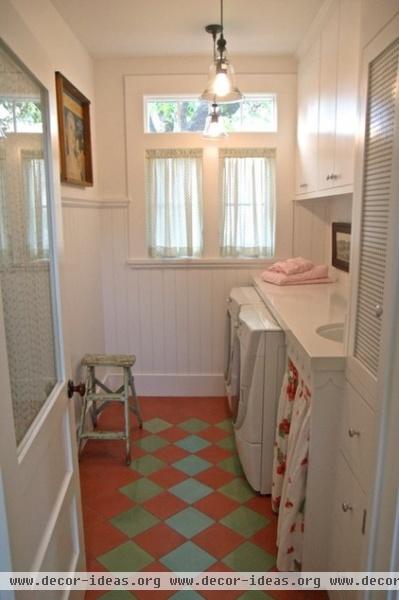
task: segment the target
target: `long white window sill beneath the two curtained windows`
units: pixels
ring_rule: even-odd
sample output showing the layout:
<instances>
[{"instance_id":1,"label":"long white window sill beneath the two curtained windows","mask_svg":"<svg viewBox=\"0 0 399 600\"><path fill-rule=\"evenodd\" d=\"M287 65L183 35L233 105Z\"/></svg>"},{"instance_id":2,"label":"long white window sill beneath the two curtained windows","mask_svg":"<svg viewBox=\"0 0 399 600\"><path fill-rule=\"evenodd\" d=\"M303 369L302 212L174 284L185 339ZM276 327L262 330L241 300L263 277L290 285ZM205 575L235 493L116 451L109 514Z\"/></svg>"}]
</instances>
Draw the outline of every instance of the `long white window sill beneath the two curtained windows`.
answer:
<instances>
[{"instance_id":1,"label":"long white window sill beneath the two curtained windows","mask_svg":"<svg viewBox=\"0 0 399 600\"><path fill-rule=\"evenodd\" d=\"M270 258L129 258L131 269L253 269L279 260Z\"/></svg>"}]
</instances>

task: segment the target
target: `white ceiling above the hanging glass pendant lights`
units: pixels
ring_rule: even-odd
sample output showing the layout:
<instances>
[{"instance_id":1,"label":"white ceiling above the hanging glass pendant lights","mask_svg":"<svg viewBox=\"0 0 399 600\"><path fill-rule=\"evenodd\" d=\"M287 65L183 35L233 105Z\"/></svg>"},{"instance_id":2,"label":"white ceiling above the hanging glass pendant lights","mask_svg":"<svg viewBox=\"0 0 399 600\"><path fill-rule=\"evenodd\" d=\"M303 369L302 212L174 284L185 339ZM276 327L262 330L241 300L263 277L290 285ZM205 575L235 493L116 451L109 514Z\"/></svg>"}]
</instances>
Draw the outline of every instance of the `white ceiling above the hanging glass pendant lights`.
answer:
<instances>
[{"instance_id":1,"label":"white ceiling above the hanging glass pendant lights","mask_svg":"<svg viewBox=\"0 0 399 600\"><path fill-rule=\"evenodd\" d=\"M218 0L51 0L97 58L208 54ZM292 54L323 0L225 0L231 54Z\"/></svg>"}]
</instances>

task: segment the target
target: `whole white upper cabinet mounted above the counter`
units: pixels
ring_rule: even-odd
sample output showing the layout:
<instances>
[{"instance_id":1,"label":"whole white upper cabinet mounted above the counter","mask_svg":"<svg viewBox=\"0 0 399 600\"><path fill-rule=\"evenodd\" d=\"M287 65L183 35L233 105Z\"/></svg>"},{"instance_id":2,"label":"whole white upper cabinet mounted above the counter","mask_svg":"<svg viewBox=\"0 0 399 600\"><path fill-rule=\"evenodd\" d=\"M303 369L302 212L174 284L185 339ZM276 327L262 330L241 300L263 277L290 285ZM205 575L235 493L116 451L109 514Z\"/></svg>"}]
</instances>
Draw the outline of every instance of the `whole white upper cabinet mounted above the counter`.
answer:
<instances>
[{"instance_id":1,"label":"whole white upper cabinet mounted above the counter","mask_svg":"<svg viewBox=\"0 0 399 600\"><path fill-rule=\"evenodd\" d=\"M300 59L299 197L352 192L359 34L359 0L331 0L310 49Z\"/></svg>"}]
</instances>

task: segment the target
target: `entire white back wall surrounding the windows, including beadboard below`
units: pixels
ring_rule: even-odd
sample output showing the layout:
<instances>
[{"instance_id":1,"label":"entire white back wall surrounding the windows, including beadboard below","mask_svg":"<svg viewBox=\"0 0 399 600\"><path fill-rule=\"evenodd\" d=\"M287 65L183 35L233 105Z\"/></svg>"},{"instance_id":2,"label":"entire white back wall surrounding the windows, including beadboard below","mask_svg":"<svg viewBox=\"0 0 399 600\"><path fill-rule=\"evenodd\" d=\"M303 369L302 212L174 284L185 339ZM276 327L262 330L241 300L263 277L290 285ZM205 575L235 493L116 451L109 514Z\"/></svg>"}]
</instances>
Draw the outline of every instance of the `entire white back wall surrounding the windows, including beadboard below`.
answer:
<instances>
[{"instance_id":1,"label":"entire white back wall surrounding the windows, including beadboard below","mask_svg":"<svg viewBox=\"0 0 399 600\"><path fill-rule=\"evenodd\" d=\"M143 94L199 95L206 85L208 63L209 57L159 57L95 64L100 191L109 203L102 211L106 348L137 355L141 394L224 393L226 297L234 285L250 284L251 274L261 265L214 261L220 145L277 148L277 253L292 253L296 120L292 58L234 57L244 93L278 94L277 134L236 134L215 143L199 134L143 132ZM165 267L145 260L144 151L156 147L204 148L205 253L203 261L189 266Z\"/></svg>"}]
</instances>

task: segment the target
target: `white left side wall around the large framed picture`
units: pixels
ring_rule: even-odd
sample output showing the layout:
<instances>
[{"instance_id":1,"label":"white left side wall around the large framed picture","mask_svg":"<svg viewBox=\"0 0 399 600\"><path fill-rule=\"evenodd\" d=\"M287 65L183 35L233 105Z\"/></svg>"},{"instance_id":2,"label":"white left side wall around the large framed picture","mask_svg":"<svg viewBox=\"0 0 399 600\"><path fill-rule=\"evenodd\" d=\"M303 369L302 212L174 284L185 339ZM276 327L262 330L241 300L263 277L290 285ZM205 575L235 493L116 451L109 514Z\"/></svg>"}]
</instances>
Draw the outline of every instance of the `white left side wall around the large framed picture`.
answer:
<instances>
[{"instance_id":1,"label":"white left side wall around the large framed picture","mask_svg":"<svg viewBox=\"0 0 399 600\"><path fill-rule=\"evenodd\" d=\"M0 14L0 37L49 91L53 190L58 217L59 256L64 275L64 334L70 349L66 367L68 374L72 372L77 377L82 351L104 349L98 235L100 228L95 226L99 221L99 212L94 203L92 214L88 218L88 209L83 208L83 205L95 201L98 196L96 136L94 131L92 144L95 185L92 188L61 186L55 71L61 71L91 100L91 118L94 124L93 61L49 0L0 0ZM63 197L71 199L64 210L61 208ZM72 207L74 201L76 204Z\"/></svg>"}]
</instances>

